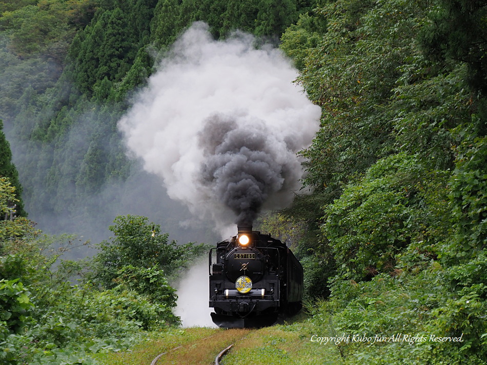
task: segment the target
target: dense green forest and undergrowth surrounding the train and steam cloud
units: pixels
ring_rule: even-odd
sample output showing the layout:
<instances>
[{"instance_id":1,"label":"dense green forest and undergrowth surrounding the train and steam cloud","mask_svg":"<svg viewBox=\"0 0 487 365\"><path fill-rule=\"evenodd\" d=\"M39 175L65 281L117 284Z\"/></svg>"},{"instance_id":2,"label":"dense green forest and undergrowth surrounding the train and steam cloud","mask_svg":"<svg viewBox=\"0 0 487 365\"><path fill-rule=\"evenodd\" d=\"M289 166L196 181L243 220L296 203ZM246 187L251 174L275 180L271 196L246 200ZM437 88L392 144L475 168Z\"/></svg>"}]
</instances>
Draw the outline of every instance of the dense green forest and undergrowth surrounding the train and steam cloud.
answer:
<instances>
[{"instance_id":1,"label":"dense green forest and undergrowth surrounding the train and steam cloud","mask_svg":"<svg viewBox=\"0 0 487 365\"><path fill-rule=\"evenodd\" d=\"M0 359L92 363L177 324L169 282L205 250L162 233L180 215L162 230L120 215L86 262L60 261L84 242L27 216L72 233L130 196L161 204L117 121L202 21L215 39L240 30L278 47L321 108L300 152L311 193L259 219L303 263L312 325L462 337L341 343L342 363L486 363L486 12L480 0L0 0Z\"/></svg>"}]
</instances>

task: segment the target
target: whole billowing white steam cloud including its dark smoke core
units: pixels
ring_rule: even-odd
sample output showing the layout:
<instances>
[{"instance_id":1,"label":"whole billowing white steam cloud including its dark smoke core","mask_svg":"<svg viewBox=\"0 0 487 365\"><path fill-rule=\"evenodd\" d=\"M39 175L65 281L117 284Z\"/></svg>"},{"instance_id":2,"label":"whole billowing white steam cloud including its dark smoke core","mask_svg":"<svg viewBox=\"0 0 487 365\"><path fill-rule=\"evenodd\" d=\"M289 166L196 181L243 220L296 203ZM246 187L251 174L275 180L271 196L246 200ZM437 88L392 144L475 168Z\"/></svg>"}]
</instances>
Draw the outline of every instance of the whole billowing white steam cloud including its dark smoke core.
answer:
<instances>
[{"instance_id":1,"label":"whole billowing white steam cloud including its dark smoke core","mask_svg":"<svg viewBox=\"0 0 487 365\"><path fill-rule=\"evenodd\" d=\"M119 121L168 195L220 232L291 202L303 172L296 153L319 128L320 108L292 84L289 60L253 43L246 34L216 41L195 23Z\"/></svg>"}]
</instances>

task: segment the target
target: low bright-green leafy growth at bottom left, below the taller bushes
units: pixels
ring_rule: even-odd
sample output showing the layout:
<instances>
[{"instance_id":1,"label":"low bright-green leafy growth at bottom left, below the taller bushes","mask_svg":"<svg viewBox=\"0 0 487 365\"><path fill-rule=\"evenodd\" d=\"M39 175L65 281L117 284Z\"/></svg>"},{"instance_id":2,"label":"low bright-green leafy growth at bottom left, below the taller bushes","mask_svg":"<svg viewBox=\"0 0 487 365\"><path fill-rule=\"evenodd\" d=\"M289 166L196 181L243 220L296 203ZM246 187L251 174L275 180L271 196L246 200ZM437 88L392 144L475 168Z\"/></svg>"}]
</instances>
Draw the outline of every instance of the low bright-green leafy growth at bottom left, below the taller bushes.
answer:
<instances>
[{"instance_id":1,"label":"low bright-green leafy growth at bottom left, below the taller bushes","mask_svg":"<svg viewBox=\"0 0 487 365\"><path fill-rule=\"evenodd\" d=\"M0 288L4 299L3 286ZM31 364L91 364L89 354L127 349L141 336L141 329L165 328L179 322L165 303L153 302L123 286L103 292L69 287L48 297L32 296L37 305L29 301L27 317L15 303L25 301L25 293L15 283L13 288L9 294L12 299L7 302L13 305L9 311L0 312L2 319L13 313L7 323L10 331L7 321L2 320L0 326L0 345L6 349L0 356L8 364L21 359ZM26 303L21 305L25 307ZM15 333L12 328L16 328Z\"/></svg>"}]
</instances>

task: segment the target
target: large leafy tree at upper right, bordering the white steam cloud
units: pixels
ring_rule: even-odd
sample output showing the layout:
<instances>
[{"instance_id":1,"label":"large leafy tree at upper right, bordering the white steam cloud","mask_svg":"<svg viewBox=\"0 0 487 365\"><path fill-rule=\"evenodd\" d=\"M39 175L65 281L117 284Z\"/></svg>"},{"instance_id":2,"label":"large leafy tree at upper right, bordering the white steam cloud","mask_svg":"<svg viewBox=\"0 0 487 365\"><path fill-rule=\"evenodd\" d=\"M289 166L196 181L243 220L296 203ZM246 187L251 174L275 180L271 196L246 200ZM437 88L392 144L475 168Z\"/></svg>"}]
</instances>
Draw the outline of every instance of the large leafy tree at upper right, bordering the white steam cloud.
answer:
<instances>
[{"instance_id":1,"label":"large leafy tree at upper right, bordering the white steam cloud","mask_svg":"<svg viewBox=\"0 0 487 365\"><path fill-rule=\"evenodd\" d=\"M306 157L310 211L330 204L349 179L377 160L408 151L432 168L453 166L451 133L469 119L464 70L441 69L417 41L431 6L422 1L343 0L319 5L282 36L302 69L297 82L321 106Z\"/></svg>"}]
</instances>

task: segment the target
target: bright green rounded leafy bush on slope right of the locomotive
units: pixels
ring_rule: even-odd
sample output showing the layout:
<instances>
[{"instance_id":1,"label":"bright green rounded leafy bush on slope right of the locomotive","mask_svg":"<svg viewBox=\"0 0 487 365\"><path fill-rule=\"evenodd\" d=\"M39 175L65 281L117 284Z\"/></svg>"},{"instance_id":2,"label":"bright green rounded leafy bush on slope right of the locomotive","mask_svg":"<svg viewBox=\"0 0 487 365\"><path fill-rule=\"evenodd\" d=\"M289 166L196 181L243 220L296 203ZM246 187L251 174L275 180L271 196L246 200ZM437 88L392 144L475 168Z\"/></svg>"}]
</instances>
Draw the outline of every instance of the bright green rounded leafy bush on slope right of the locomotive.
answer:
<instances>
[{"instance_id":1,"label":"bright green rounded leafy bush on slope right of the locomotive","mask_svg":"<svg viewBox=\"0 0 487 365\"><path fill-rule=\"evenodd\" d=\"M322 227L341 277L358 281L392 272L407 249L423 260L434 256L433 246L448 227L447 196L434 188L446 185L448 176L399 153L349 184L327 208Z\"/></svg>"}]
</instances>

